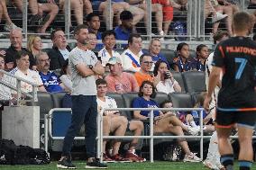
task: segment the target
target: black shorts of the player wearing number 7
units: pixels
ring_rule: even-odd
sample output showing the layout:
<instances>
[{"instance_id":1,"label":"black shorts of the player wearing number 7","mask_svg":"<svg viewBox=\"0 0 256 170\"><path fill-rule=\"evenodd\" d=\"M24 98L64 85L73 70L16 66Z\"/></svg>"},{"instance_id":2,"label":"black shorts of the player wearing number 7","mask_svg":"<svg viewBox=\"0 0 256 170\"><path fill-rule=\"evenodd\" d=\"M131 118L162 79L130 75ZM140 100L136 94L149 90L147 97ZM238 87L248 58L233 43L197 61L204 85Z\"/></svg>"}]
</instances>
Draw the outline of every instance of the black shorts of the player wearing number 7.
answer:
<instances>
[{"instance_id":1,"label":"black shorts of the player wearing number 7","mask_svg":"<svg viewBox=\"0 0 256 170\"><path fill-rule=\"evenodd\" d=\"M215 122L217 128L231 128L233 124L237 123L253 129L256 123L256 112L231 112L217 109Z\"/></svg>"}]
</instances>

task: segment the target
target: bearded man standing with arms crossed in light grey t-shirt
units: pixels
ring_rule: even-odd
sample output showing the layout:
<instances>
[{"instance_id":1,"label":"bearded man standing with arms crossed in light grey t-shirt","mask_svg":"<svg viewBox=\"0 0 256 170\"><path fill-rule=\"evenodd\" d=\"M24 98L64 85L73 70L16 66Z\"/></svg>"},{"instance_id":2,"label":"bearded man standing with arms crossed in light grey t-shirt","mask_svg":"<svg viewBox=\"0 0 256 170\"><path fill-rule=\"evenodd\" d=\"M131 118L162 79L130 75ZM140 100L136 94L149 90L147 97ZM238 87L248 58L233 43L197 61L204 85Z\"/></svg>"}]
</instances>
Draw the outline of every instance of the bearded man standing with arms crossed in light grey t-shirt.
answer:
<instances>
[{"instance_id":1,"label":"bearded man standing with arms crossed in light grey t-shirt","mask_svg":"<svg viewBox=\"0 0 256 170\"><path fill-rule=\"evenodd\" d=\"M87 26L78 25L75 29L75 39L78 46L69 54L69 66L72 80L72 118L69 130L65 136L62 155L57 167L75 169L71 163L71 147L75 136L83 123L86 125L86 168L107 168L101 164L96 156L96 79L95 75L103 75L104 67L97 60L96 55L87 49L88 30Z\"/></svg>"}]
</instances>

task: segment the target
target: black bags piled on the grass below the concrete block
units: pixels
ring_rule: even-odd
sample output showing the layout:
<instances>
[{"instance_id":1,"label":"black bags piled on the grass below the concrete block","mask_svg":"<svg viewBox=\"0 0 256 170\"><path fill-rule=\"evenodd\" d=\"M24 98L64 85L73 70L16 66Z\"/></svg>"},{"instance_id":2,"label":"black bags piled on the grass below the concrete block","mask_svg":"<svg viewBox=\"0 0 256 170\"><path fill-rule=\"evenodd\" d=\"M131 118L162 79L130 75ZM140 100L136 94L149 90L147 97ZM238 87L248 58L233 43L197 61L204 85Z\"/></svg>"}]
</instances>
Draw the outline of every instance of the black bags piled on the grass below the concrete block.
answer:
<instances>
[{"instance_id":1,"label":"black bags piled on the grass below the concrete block","mask_svg":"<svg viewBox=\"0 0 256 170\"><path fill-rule=\"evenodd\" d=\"M0 140L0 165L50 164L50 158L41 148L16 146L13 140Z\"/></svg>"}]
</instances>

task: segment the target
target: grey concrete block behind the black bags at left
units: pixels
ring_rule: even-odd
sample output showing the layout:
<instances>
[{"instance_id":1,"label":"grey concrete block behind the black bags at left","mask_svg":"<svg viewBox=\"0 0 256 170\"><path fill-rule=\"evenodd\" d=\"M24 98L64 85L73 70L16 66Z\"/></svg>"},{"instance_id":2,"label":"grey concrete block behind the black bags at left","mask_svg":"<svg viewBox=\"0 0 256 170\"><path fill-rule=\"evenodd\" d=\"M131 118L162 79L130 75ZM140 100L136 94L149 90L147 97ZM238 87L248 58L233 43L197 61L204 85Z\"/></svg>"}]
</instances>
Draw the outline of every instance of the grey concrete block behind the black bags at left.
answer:
<instances>
[{"instance_id":1,"label":"grey concrete block behind the black bags at left","mask_svg":"<svg viewBox=\"0 0 256 170\"><path fill-rule=\"evenodd\" d=\"M13 139L16 145L40 148L40 107L5 107L2 139Z\"/></svg>"}]
</instances>

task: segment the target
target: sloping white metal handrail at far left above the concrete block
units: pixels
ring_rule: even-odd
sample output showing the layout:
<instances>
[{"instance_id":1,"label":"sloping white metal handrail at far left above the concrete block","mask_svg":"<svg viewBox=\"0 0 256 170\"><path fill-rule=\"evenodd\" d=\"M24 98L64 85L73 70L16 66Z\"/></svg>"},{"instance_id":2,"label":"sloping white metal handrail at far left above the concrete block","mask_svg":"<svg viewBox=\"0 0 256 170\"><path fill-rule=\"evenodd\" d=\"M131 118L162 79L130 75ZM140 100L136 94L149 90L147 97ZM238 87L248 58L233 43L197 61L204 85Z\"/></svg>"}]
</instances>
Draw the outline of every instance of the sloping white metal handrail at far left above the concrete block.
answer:
<instances>
[{"instance_id":1,"label":"sloping white metal handrail at far left above the concrete block","mask_svg":"<svg viewBox=\"0 0 256 170\"><path fill-rule=\"evenodd\" d=\"M16 86L10 85L9 84L10 82L5 82L1 79L0 79L0 85L5 85L8 88L17 92L17 98L16 98L17 106L20 106L21 103L23 103L23 102L38 102L38 99L37 99L37 87L38 87L38 85L36 85L36 84L34 84L34 83L32 83L28 80L25 80L20 76L14 76L9 72L4 71L3 69L0 69L0 73L5 74L5 76L10 76L10 78L15 79ZM32 85L32 94L28 94L28 93L26 93L22 90L22 88L21 88L22 82L27 83L29 85ZM25 94L25 96L27 96L31 99L26 99L25 97L22 97L22 94Z\"/></svg>"}]
</instances>

